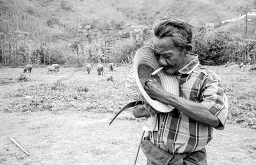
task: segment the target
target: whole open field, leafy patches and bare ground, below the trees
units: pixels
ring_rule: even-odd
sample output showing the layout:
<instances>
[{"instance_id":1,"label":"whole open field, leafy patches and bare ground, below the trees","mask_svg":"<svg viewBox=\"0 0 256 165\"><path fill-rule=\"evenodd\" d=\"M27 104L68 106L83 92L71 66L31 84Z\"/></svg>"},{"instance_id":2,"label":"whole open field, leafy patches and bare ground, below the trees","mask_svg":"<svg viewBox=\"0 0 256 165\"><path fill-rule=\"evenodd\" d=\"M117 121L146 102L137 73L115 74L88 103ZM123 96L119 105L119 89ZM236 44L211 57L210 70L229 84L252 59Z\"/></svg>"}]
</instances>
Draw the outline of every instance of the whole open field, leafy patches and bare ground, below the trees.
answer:
<instances>
[{"instance_id":1,"label":"whole open field, leafy patches and bare ground, below the trees","mask_svg":"<svg viewBox=\"0 0 256 165\"><path fill-rule=\"evenodd\" d=\"M249 66L210 68L225 83L233 110L225 129L214 130L206 146L207 162L254 165L256 130L251 128L251 115L256 72L248 72ZM96 75L95 67L89 75L84 68L61 67L57 74L33 68L24 74L25 80L17 80L21 68L0 68L0 164L133 164L144 121L126 110L108 125L130 101L123 92L123 70L115 67L102 76ZM106 80L110 74L114 81ZM235 113L236 108L241 112ZM246 110L250 114L243 116ZM145 161L140 151L136 164Z\"/></svg>"}]
</instances>

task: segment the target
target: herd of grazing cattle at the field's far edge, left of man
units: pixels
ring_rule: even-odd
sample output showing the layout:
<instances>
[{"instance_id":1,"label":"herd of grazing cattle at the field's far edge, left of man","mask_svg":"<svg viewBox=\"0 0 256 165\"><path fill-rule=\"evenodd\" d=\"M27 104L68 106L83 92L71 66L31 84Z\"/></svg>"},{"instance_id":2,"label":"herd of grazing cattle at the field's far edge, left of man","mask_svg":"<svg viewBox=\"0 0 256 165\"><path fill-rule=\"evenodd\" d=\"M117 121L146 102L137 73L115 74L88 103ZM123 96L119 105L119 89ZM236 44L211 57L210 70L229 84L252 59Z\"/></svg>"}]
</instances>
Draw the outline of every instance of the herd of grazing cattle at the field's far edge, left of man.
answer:
<instances>
[{"instance_id":1,"label":"herd of grazing cattle at the field's far edge, left of man","mask_svg":"<svg viewBox=\"0 0 256 165\"><path fill-rule=\"evenodd\" d=\"M57 71L59 70L58 68L59 68L59 65L56 64L56 63L52 64L51 66L47 66L47 74L50 74L50 73L53 74L53 71L55 73L57 73ZM114 68L113 67L113 63L108 63L108 71L113 71L113 68ZM91 65L87 64L86 69L87 69L87 72L89 74L90 73L90 69L91 69ZM104 67L103 67L102 64L97 64L96 70L98 72L98 75L100 75L100 74L103 75L103 69L104 69ZM23 72L25 73L25 72L28 71L28 73L31 73L31 70L32 70L32 65L27 64L26 68L23 70Z\"/></svg>"}]
</instances>

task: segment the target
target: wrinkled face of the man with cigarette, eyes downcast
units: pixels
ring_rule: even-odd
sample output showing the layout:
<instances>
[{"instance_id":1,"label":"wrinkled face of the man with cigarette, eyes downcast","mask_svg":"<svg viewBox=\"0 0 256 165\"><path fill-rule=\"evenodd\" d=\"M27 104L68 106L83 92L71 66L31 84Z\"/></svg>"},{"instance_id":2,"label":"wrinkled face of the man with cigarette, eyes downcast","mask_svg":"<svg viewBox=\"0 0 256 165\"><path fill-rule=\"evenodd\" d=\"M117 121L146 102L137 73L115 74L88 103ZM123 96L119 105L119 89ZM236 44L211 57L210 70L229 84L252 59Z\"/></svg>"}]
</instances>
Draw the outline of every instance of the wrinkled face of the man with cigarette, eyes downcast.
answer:
<instances>
[{"instance_id":1,"label":"wrinkled face of the man with cigarette, eyes downcast","mask_svg":"<svg viewBox=\"0 0 256 165\"><path fill-rule=\"evenodd\" d=\"M153 48L160 66L166 74L173 74L187 64L185 49L174 46L171 36L153 37Z\"/></svg>"}]
</instances>

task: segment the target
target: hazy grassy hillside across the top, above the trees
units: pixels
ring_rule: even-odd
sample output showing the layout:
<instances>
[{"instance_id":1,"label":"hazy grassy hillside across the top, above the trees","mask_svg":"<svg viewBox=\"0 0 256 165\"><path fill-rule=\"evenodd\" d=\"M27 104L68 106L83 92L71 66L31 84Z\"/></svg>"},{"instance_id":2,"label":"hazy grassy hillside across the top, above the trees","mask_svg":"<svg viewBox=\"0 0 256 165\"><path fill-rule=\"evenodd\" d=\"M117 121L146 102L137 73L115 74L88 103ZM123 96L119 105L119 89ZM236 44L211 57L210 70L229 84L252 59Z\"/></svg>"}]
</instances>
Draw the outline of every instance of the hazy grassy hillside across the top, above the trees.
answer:
<instances>
[{"instance_id":1,"label":"hazy grassy hillside across the top, above the trees","mask_svg":"<svg viewBox=\"0 0 256 165\"><path fill-rule=\"evenodd\" d=\"M255 1L255 0L254 0ZM110 22L134 21L151 27L156 17L177 15L195 27L204 22L219 24L238 16L253 0L0 0L0 9L10 9L39 18L52 17L99 19Z\"/></svg>"}]
</instances>

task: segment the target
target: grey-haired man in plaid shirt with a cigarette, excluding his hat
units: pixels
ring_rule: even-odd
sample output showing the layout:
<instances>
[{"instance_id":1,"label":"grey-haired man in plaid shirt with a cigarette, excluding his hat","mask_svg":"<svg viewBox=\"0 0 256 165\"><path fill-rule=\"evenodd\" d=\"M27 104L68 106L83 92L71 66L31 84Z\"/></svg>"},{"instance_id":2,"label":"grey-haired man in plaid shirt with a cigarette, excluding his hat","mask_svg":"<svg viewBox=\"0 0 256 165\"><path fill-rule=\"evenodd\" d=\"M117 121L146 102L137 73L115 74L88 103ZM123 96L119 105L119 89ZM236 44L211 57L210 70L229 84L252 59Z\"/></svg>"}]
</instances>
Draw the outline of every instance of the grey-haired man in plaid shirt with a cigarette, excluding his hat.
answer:
<instances>
[{"instance_id":1,"label":"grey-haired man in plaid shirt with a cigarette, excluding his hat","mask_svg":"<svg viewBox=\"0 0 256 165\"><path fill-rule=\"evenodd\" d=\"M140 143L147 164L207 164L205 145L213 128L222 130L227 117L227 97L218 75L200 65L190 53L193 26L174 16L153 24L153 49L166 74L179 80L179 96L168 93L156 80L145 82L145 91L174 109L157 113L158 130L148 131ZM135 117L148 115L144 105L132 109Z\"/></svg>"}]
</instances>

